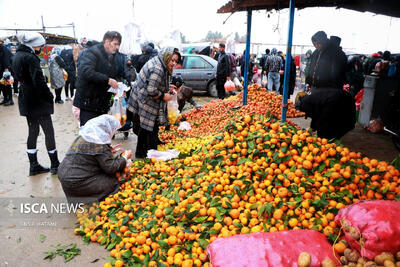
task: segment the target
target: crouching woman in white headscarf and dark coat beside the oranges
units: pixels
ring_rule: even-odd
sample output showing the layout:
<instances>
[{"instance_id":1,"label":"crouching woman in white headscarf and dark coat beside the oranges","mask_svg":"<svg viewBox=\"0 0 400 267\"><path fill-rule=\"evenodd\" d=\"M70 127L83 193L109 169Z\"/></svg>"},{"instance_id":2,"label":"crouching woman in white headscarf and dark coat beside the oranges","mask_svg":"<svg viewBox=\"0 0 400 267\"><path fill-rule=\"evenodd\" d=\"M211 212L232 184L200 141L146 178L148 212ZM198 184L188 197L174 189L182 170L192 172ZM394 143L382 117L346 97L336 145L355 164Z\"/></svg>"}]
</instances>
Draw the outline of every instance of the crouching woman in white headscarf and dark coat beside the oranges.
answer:
<instances>
[{"instance_id":1,"label":"crouching woman in white headscarf and dark coat beside the oranges","mask_svg":"<svg viewBox=\"0 0 400 267\"><path fill-rule=\"evenodd\" d=\"M78 138L58 168L58 178L68 201L101 201L118 192L115 173L124 170L132 156L132 151L126 150L123 157L113 157L116 146L111 146L111 139L120 127L115 117L101 115L79 130Z\"/></svg>"}]
</instances>

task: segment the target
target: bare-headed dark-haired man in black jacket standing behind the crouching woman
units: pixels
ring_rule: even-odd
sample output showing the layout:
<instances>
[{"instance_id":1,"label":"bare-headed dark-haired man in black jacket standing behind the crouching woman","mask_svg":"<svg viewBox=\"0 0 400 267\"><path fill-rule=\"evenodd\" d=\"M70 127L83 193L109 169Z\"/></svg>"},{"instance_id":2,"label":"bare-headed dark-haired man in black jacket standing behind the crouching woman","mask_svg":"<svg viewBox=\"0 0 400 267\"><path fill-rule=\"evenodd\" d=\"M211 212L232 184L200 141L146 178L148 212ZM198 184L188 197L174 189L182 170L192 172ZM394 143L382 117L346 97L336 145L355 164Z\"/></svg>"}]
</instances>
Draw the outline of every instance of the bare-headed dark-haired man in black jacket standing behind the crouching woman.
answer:
<instances>
[{"instance_id":1,"label":"bare-headed dark-haired man in black jacket standing behind the crouching woman","mask_svg":"<svg viewBox=\"0 0 400 267\"><path fill-rule=\"evenodd\" d=\"M107 91L110 86L118 88L115 52L119 49L121 39L119 32L108 31L102 43L80 55L74 106L81 109L81 126L92 118L106 114L110 108L112 94Z\"/></svg>"}]
</instances>

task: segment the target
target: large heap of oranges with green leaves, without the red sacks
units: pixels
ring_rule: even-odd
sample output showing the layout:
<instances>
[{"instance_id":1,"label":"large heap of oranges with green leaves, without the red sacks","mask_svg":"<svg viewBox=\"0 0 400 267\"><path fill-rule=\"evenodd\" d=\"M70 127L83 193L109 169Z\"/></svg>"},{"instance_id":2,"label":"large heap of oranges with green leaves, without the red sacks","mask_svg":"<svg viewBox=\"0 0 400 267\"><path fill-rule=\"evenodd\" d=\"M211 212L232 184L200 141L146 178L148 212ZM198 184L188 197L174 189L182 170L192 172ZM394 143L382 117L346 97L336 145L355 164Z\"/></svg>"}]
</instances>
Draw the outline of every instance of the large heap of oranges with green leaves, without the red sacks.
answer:
<instances>
[{"instance_id":1,"label":"large heap of oranges with green leaves, without the red sacks","mask_svg":"<svg viewBox=\"0 0 400 267\"><path fill-rule=\"evenodd\" d=\"M110 250L105 266L210 266L218 237L313 229L333 243L339 210L398 200L397 169L281 124L279 98L252 87L248 106L234 108L239 96L190 111L192 130L161 137L211 141L168 162L135 161L120 192L78 214L75 233Z\"/></svg>"}]
</instances>

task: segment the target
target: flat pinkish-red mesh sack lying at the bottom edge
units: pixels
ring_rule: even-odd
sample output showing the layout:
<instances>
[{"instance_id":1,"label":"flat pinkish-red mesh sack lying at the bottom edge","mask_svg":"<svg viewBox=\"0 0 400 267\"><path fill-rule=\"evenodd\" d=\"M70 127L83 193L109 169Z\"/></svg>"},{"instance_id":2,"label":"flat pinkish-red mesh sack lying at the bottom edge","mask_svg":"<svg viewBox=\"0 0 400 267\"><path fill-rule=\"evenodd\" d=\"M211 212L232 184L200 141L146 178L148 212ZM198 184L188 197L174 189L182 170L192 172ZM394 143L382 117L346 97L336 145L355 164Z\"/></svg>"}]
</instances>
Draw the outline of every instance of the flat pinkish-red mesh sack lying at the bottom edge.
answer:
<instances>
[{"instance_id":1,"label":"flat pinkish-red mesh sack lying at the bottom edge","mask_svg":"<svg viewBox=\"0 0 400 267\"><path fill-rule=\"evenodd\" d=\"M321 266L333 256L326 237L314 230L291 230L274 233L254 233L217 238L207 247L213 267L237 266L293 266L301 252L311 255L311 266Z\"/></svg>"}]
</instances>

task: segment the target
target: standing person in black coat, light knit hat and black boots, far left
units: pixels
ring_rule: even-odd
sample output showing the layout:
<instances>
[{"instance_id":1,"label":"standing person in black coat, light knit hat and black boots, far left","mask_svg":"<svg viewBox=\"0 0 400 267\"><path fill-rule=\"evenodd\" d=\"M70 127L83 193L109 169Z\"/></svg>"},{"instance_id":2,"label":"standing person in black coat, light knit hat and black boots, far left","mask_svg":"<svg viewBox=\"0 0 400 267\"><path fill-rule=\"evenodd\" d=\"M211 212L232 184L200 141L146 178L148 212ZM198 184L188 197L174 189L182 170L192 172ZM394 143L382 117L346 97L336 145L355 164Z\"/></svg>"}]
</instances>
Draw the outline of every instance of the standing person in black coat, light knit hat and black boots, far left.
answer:
<instances>
[{"instance_id":1,"label":"standing person in black coat, light knit hat and black boots, far left","mask_svg":"<svg viewBox=\"0 0 400 267\"><path fill-rule=\"evenodd\" d=\"M14 56L12 68L20 81L18 106L21 116L28 122L29 135L27 140L27 154L30 162L29 175L36 175L51 171L57 174L60 164L57 157L56 141L54 137L51 114L54 112L53 94L44 79L40 67L42 46L46 43L43 36L36 32L18 35L21 44ZM41 166L37 160L37 138L39 126L45 135L46 148L51 160L51 167Z\"/></svg>"}]
</instances>

